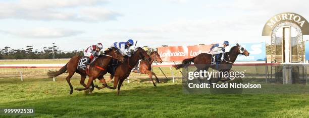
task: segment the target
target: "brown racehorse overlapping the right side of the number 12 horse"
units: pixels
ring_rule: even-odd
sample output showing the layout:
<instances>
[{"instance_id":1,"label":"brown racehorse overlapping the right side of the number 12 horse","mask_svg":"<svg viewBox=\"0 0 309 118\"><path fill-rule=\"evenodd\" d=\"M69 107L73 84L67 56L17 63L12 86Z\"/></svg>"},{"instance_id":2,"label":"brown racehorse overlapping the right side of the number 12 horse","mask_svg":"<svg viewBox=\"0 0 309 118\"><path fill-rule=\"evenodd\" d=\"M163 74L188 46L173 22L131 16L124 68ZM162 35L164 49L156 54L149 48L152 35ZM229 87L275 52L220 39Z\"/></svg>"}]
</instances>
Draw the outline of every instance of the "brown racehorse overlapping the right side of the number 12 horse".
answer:
<instances>
[{"instance_id":1,"label":"brown racehorse overlapping the right side of the number 12 horse","mask_svg":"<svg viewBox=\"0 0 309 118\"><path fill-rule=\"evenodd\" d=\"M118 67L116 68L114 75L111 74L112 76L115 77L114 86L111 87L107 85L107 88L116 89L119 81L117 89L117 95L119 95L122 82L130 75L132 68L137 64L138 60L140 59L149 60L150 56L147 54L145 50L143 50L140 47L137 47L136 51L133 53L131 57L128 57L127 61L118 64ZM109 73L112 73L111 71L112 70L110 69L108 70Z\"/></svg>"}]
</instances>

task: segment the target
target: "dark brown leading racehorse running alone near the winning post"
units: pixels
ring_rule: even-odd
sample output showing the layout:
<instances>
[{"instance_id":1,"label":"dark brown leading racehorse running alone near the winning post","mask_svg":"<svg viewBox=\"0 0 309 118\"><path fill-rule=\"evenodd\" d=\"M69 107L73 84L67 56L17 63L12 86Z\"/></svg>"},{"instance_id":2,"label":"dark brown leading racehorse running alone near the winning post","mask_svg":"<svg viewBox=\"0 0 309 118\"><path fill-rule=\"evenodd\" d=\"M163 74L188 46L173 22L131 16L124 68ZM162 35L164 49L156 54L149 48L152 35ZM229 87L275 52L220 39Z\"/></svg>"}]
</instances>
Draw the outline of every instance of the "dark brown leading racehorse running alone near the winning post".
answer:
<instances>
[{"instance_id":1,"label":"dark brown leading racehorse running alone near the winning post","mask_svg":"<svg viewBox=\"0 0 309 118\"><path fill-rule=\"evenodd\" d=\"M213 55L208 53L201 53L193 58L184 59L182 61L182 64L174 65L174 67L176 69L180 69L183 67L188 67L191 64L191 62L194 62L194 66L197 68L195 72L199 72L200 70L208 71L210 67L219 70L220 72L223 73L229 72L239 54L249 56L249 52L246 49L241 47L239 44L236 44L236 46L233 46L229 52L226 52L224 54L223 61L217 67L216 65L211 64ZM224 82L229 80L229 79L221 80L220 78L215 83L217 83L218 81ZM199 82L201 82L199 77L197 77L197 79L199 80ZM211 80L209 80L209 82L211 83Z\"/></svg>"}]
</instances>

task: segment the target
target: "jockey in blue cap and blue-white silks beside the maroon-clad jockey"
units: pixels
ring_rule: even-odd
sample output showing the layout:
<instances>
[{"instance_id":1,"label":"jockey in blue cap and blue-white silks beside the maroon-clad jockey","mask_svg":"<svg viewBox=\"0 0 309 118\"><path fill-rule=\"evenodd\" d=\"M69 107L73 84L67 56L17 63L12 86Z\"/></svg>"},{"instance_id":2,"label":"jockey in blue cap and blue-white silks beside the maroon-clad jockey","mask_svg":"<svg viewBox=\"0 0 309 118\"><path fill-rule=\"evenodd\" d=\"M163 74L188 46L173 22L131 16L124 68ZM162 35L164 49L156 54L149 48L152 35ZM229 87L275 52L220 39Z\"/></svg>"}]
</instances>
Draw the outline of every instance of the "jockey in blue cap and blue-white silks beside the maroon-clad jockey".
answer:
<instances>
[{"instance_id":1,"label":"jockey in blue cap and blue-white silks beside the maroon-clad jockey","mask_svg":"<svg viewBox=\"0 0 309 118\"><path fill-rule=\"evenodd\" d=\"M119 49L123 56L131 57L130 46L133 46L133 44L133 40L129 39L127 42L115 42L112 47Z\"/></svg>"}]
</instances>

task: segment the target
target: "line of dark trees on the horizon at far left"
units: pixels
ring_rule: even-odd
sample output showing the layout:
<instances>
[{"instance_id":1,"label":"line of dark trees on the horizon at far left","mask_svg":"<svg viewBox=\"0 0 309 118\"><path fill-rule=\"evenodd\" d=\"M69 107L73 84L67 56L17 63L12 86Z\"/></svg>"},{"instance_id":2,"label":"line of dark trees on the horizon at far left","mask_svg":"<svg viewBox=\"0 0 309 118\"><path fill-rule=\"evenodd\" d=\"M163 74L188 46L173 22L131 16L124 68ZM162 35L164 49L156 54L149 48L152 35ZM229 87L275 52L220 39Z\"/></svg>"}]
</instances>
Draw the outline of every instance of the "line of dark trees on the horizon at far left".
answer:
<instances>
[{"instance_id":1,"label":"line of dark trees on the horizon at far left","mask_svg":"<svg viewBox=\"0 0 309 118\"><path fill-rule=\"evenodd\" d=\"M83 55L83 51L60 51L56 44L51 47L43 47L41 50L33 50L33 46L26 49L12 49L8 46L0 49L0 59L56 59L71 58L75 55Z\"/></svg>"}]
</instances>

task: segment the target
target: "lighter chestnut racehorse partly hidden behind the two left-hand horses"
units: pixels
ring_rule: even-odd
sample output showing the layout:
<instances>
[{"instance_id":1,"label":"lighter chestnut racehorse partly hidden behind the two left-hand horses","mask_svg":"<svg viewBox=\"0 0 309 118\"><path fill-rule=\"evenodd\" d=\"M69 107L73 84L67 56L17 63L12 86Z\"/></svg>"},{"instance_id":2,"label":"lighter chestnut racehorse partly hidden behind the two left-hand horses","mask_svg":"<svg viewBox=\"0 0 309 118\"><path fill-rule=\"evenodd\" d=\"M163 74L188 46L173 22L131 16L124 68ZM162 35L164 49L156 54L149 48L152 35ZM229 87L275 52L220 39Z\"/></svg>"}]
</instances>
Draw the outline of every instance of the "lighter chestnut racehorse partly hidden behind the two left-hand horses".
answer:
<instances>
[{"instance_id":1,"label":"lighter chestnut racehorse partly hidden behind the two left-hand horses","mask_svg":"<svg viewBox=\"0 0 309 118\"><path fill-rule=\"evenodd\" d=\"M156 77L156 81L160 83L156 73L151 72L151 64L153 61L158 61L159 63L162 63L162 59L157 51L152 51L150 53L150 62L147 62L145 60L141 60L139 62L139 72L137 70L134 70L135 73L142 73L142 74L148 74L148 77L150 78L153 86L157 87L156 83L152 79L152 75ZM111 81L113 79L113 75L111 74L110 79L108 81Z\"/></svg>"}]
</instances>

